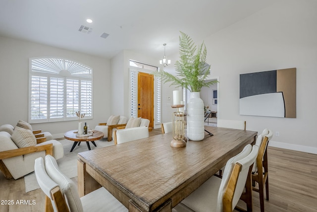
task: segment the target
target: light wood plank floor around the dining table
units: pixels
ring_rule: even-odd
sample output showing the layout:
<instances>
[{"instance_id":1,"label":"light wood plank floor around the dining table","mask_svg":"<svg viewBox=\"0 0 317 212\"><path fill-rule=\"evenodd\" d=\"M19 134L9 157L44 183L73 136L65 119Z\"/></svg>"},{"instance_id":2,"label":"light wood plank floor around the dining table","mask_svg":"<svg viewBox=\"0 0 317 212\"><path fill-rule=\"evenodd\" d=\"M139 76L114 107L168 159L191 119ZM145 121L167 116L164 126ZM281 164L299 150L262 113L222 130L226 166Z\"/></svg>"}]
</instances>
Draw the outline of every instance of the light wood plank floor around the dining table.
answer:
<instances>
[{"instance_id":1,"label":"light wood plank floor around the dining table","mask_svg":"<svg viewBox=\"0 0 317 212\"><path fill-rule=\"evenodd\" d=\"M159 133L153 130L150 135ZM268 166L265 212L317 212L316 154L268 147ZM77 184L77 178L72 180ZM0 201L0 212L43 212L45 196L41 189L25 193L23 178L7 180L0 173ZM13 201L13 205L5 201ZM254 192L253 211L260 212L259 207L259 194Z\"/></svg>"}]
</instances>

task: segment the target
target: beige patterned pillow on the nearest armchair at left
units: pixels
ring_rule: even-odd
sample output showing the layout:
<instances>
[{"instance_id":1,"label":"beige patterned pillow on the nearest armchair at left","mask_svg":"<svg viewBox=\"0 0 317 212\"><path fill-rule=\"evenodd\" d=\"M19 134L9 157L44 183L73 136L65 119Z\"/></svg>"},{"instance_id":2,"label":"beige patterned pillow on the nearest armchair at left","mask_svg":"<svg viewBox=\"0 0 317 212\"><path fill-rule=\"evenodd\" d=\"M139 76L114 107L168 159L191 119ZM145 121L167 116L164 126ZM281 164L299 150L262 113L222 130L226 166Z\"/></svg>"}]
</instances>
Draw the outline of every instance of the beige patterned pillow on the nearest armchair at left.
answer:
<instances>
[{"instance_id":1,"label":"beige patterned pillow on the nearest armchair at left","mask_svg":"<svg viewBox=\"0 0 317 212\"><path fill-rule=\"evenodd\" d=\"M36 145L36 138L32 131L19 127L15 127L11 139L19 148Z\"/></svg>"}]
</instances>

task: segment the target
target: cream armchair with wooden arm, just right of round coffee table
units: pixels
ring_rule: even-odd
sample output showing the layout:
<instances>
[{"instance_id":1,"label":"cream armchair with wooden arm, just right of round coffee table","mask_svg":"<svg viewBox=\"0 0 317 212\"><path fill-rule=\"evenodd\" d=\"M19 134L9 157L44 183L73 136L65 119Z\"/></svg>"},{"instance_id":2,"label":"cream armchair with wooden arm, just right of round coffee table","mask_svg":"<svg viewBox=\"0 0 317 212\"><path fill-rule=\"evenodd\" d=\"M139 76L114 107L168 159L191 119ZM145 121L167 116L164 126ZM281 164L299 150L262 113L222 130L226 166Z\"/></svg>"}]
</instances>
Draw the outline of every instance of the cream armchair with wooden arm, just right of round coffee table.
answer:
<instances>
[{"instance_id":1,"label":"cream armchair with wooden arm, just right of round coffee table","mask_svg":"<svg viewBox=\"0 0 317 212\"><path fill-rule=\"evenodd\" d=\"M112 133L118 127L124 127L127 124L127 117L125 116L110 116L106 123L99 123L95 130L103 132L107 135L107 140L112 141Z\"/></svg>"}]
</instances>

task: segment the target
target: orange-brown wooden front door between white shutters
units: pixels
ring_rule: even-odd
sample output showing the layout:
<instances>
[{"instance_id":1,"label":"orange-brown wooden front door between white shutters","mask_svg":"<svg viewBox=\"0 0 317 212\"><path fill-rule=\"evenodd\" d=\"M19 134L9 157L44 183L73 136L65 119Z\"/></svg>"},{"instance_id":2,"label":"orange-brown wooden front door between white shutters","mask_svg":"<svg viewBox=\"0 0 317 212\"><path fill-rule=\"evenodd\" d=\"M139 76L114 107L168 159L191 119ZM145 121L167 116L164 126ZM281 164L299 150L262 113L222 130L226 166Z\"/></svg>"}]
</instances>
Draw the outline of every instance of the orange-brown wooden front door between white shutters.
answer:
<instances>
[{"instance_id":1,"label":"orange-brown wooden front door between white shutters","mask_svg":"<svg viewBox=\"0 0 317 212\"><path fill-rule=\"evenodd\" d=\"M154 75L138 72L138 117L150 120L154 127Z\"/></svg>"}]
</instances>

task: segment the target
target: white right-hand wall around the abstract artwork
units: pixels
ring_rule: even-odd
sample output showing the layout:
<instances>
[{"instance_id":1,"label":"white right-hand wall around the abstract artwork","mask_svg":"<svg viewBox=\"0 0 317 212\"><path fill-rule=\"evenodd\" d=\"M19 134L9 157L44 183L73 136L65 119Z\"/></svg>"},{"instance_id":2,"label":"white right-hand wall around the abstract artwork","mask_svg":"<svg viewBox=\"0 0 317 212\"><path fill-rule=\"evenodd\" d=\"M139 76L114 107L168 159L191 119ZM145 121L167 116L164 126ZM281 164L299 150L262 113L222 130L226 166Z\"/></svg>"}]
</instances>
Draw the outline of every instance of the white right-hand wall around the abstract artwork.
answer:
<instances>
[{"instance_id":1,"label":"white right-hand wall around the abstract artwork","mask_svg":"<svg viewBox=\"0 0 317 212\"><path fill-rule=\"evenodd\" d=\"M219 76L218 118L247 121L275 134L270 145L317 153L317 3L276 3L205 39L211 74ZM239 74L296 68L296 118L239 115Z\"/></svg>"}]
</instances>

